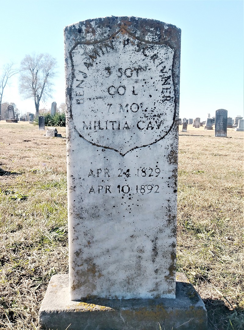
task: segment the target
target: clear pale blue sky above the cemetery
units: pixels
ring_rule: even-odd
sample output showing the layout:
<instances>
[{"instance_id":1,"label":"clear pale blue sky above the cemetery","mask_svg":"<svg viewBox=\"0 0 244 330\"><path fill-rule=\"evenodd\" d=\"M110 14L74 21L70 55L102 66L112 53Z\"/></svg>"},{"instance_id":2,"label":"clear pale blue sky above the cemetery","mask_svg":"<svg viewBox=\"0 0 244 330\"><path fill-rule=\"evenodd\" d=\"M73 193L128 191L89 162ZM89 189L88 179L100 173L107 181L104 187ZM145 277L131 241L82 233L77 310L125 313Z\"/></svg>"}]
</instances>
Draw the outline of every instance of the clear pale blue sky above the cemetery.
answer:
<instances>
[{"instance_id":1,"label":"clear pale blue sky above the cemetery","mask_svg":"<svg viewBox=\"0 0 244 330\"><path fill-rule=\"evenodd\" d=\"M92 1L0 0L0 68L19 66L26 54L50 53L58 61L53 98L41 107L65 101L63 28L88 18L138 16L182 30L180 117L206 119L217 109L243 115L243 1ZM18 93L17 77L3 101L25 113L34 101Z\"/></svg>"}]
</instances>

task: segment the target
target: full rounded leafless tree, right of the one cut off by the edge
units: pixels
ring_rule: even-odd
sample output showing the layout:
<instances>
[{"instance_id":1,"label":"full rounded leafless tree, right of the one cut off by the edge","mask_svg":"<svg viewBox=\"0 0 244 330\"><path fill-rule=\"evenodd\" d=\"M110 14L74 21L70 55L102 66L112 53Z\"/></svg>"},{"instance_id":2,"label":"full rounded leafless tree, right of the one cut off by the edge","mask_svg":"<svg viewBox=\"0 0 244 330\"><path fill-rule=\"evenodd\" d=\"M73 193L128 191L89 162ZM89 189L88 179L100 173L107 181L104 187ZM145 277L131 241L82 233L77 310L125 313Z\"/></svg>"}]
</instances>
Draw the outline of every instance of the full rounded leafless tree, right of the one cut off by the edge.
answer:
<instances>
[{"instance_id":1,"label":"full rounded leafless tree, right of the one cut off by the edge","mask_svg":"<svg viewBox=\"0 0 244 330\"><path fill-rule=\"evenodd\" d=\"M20 64L19 92L26 99L34 98L36 112L39 112L41 98L45 101L51 97L56 65L56 59L50 54L26 55Z\"/></svg>"}]
</instances>

